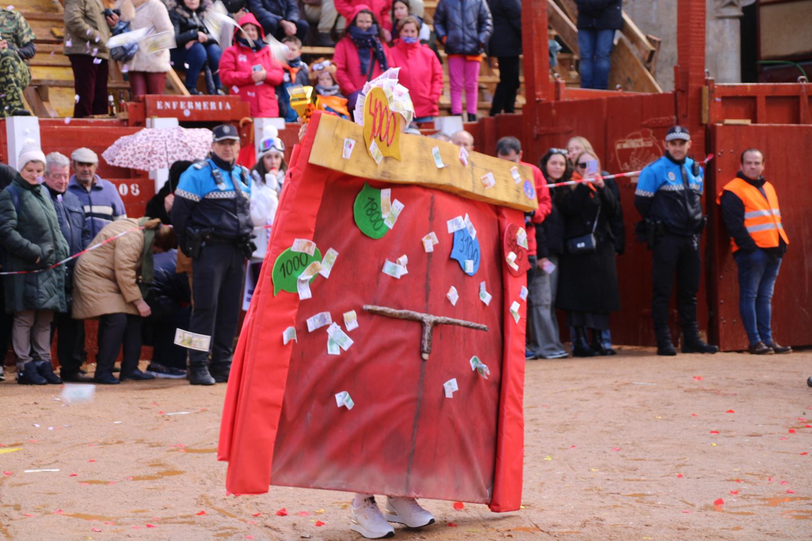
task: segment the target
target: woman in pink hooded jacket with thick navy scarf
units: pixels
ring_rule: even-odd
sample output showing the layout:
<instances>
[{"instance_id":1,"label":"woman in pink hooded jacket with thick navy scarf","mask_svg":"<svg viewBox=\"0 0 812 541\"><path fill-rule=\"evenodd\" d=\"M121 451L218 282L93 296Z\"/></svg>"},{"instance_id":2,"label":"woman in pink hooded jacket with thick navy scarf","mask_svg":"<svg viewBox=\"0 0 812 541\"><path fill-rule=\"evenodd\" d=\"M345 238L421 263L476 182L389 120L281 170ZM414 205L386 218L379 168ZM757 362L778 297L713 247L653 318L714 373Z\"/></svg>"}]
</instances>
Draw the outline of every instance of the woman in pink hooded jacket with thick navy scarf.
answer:
<instances>
[{"instance_id":1,"label":"woman in pink hooded jacket with thick navy scarf","mask_svg":"<svg viewBox=\"0 0 812 541\"><path fill-rule=\"evenodd\" d=\"M365 4L356 6L347 33L335 45L335 79L347 97L348 109L355 109L364 84L387 71L391 65L389 47L382 40L378 20ZM222 67L220 68L222 71ZM222 75L221 75L222 76Z\"/></svg>"}]
</instances>

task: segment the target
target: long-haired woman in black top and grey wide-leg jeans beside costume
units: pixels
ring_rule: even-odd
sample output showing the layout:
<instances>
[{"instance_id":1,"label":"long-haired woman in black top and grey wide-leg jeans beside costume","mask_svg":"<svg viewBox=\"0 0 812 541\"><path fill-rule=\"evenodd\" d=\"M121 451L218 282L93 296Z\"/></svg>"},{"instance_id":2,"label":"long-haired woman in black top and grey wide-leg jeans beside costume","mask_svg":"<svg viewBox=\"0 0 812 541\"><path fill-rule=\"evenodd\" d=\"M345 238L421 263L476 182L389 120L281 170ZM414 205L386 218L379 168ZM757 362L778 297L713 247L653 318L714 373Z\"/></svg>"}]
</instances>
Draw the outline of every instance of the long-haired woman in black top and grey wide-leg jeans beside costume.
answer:
<instances>
[{"instance_id":1,"label":"long-haired woman in black top and grey wide-leg jeans beside costume","mask_svg":"<svg viewBox=\"0 0 812 541\"><path fill-rule=\"evenodd\" d=\"M564 148L551 148L538 162L548 184L566 182L572 177L572 166ZM555 188L554 188L555 190ZM552 195L555 195L555 191ZM569 354L561 345L555 296L558 290L560 255L564 251L564 221L553 200L551 213L536 225L538 264L528 273L527 356L529 359L562 359ZM548 263L549 262L549 263ZM549 264L553 264L550 267ZM549 272L548 272L549 271ZM532 355L532 356L531 356Z\"/></svg>"}]
</instances>

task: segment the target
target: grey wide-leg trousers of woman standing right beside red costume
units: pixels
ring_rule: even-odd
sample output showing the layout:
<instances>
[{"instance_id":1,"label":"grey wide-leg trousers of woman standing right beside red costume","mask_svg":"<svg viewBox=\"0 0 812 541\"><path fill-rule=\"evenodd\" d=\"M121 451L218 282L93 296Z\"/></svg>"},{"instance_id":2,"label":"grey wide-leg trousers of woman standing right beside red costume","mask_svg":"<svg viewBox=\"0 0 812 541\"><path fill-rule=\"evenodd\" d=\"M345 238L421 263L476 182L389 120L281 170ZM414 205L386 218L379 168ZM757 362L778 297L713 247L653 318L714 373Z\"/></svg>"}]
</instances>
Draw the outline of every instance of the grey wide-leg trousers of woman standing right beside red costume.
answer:
<instances>
[{"instance_id":1,"label":"grey wide-leg trousers of woman standing right beside red costume","mask_svg":"<svg viewBox=\"0 0 812 541\"><path fill-rule=\"evenodd\" d=\"M555 264L552 274L536 268L527 289L527 349L549 357L564 351L555 317L555 292L558 290L558 255L549 255Z\"/></svg>"}]
</instances>

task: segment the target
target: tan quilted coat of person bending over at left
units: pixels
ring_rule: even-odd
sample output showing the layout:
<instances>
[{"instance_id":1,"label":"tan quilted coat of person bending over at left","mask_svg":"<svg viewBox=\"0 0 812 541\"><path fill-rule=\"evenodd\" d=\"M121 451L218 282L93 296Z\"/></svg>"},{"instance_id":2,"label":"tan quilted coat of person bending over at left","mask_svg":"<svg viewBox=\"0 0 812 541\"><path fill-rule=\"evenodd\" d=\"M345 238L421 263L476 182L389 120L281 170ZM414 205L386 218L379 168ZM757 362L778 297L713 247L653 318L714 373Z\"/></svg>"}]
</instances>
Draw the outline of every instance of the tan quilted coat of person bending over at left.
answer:
<instances>
[{"instance_id":1,"label":"tan quilted coat of person bending over at left","mask_svg":"<svg viewBox=\"0 0 812 541\"><path fill-rule=\"evenodd\" d=\"M116 220L99 231L91 246L138 228L133 218ZM138 315L133 304L141 298L136 283L144 232L133 231L80 255L73 271L73 317L86 320L103 314Z\"/></svg>"}]
</instances>

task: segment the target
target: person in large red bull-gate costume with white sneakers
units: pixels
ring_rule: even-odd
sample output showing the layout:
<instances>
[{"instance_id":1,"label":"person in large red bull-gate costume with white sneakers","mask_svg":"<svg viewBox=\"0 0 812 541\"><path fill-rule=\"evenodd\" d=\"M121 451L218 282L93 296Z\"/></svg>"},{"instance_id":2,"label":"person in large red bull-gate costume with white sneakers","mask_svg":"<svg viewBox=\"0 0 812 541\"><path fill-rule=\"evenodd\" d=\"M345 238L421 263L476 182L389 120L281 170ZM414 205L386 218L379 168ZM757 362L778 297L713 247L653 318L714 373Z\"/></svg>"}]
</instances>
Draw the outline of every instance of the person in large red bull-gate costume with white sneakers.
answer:
<instances>
[{"instance_id":1,"label":"person in large red bull-gate costume with white sneakers","mask_svg":"<svg viewBox=\"0 0 812 541\"><path fill-rule=\"evenodd\" d=\"M389 114L374 97L365 127ZM235 494L355 492L369 539L433 523L419 497L520 508L520 232L538 207L523 164L383 130L316 111L293 148L218 448Z\"/></svg>"}]
</instances>

